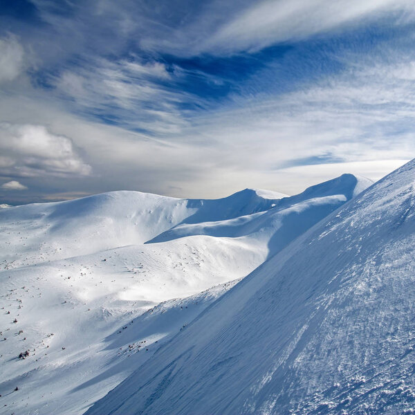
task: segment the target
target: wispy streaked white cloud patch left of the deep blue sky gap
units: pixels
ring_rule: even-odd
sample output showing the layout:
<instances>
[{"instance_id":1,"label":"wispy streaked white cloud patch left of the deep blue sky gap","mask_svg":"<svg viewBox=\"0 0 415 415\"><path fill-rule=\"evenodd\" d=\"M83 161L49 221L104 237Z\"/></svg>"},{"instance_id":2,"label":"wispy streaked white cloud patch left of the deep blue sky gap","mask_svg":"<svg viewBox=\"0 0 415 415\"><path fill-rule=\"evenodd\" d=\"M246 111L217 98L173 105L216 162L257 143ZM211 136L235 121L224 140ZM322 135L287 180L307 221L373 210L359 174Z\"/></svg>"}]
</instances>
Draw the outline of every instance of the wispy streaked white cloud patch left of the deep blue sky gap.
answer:
<instances>
[{"instance_id":1,"label":"wispy streaked white cloud patch left of the deep blue sky gap","mask_svg":"<svg viewBox=\"0 0 415 415\"><path fill-rule=\"evenodd\" d=\"M97 59L71 66L51 84L60 99L85 116L163 134L178 132L186 124L177 104L189 100L189 94L160 84L171 77L160 62Z\"/></svg>"}]
</instances>

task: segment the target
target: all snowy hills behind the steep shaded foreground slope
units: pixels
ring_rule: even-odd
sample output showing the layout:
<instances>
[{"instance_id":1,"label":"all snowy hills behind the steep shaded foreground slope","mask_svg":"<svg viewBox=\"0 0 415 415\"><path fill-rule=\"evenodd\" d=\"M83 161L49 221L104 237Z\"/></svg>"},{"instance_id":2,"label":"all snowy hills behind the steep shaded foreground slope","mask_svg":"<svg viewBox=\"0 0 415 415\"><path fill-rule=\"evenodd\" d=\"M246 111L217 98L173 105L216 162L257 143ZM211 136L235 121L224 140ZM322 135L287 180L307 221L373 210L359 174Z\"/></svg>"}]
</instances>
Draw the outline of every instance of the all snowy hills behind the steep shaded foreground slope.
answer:
<instances>
[{"instance_id":1,"label":"all snowy hills behind the steep shaded foreground slope","mask_svg":"<svg viewBox=\"0 0 415 415\"><path fill-rule=\"evenodd\" d=\"M0 413L83 413L369 184L347 174L292 197L111 192L0 210Z\"/></svg>"}]
</instances>

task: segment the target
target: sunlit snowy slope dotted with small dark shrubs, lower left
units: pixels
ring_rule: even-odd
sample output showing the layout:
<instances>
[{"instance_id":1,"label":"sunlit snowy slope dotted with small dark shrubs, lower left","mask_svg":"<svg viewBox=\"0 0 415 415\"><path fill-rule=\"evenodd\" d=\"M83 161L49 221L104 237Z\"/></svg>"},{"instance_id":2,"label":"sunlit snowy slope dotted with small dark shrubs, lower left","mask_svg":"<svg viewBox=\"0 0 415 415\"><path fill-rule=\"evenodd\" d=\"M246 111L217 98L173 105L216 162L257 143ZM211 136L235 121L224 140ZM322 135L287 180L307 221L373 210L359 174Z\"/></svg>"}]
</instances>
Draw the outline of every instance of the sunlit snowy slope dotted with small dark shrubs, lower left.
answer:
<instances>
[{"instance_id":1,"label":"sunlit snowy slope dotted with small dark shrubs, lower left","mask_svg":"<svg viewBox=\"0 0 415 415\"><path fill-rule=\"evenodd\" d=\"M262 261L261 252L241 241L191 237L3 271L0 403L8 406L0 413L10 406L19 414L84 412L148 358L154 342L178 332L228 282ZM223 283L214 295L199 294ZM199 305L169 311L171 299L194 295L201 296ZM165 301L167 312L143 326L143 313ZM129 358L129 344L144 341L148 353ZM19 360L26 350L30 356ZM16 386L19 394L12 393Z\"/></svg>"}]
</instances>

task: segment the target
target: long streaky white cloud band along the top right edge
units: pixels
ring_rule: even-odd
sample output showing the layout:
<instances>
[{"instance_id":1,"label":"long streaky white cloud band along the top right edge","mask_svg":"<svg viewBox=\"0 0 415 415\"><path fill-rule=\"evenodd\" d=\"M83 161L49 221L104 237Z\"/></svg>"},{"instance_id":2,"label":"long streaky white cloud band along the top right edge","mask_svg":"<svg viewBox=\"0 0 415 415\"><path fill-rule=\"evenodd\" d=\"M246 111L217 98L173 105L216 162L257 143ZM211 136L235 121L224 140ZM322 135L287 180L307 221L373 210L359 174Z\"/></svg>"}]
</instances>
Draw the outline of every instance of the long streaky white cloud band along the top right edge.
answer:
<instances>
[{"instance_id":1,"label":"long streaky white cloud band along the top right edge","mask_svg":"<svg viewBox=\"0 0 415 415\"><path fill-rule=\"evenodd\" d=\"M415 17L412 0L208 0L203 6L175 2L176 10L185 8L185 15L163 0L157 10L134 4L137 21L135 25L129 21L129 37L145 50L179 56L232 55L345 26L356 28L383 17L398 17L396 24L413 22ZM131 2L118 2L106 12L118 15L118 23L131 19Z\"/></svg>"}]
</instances>

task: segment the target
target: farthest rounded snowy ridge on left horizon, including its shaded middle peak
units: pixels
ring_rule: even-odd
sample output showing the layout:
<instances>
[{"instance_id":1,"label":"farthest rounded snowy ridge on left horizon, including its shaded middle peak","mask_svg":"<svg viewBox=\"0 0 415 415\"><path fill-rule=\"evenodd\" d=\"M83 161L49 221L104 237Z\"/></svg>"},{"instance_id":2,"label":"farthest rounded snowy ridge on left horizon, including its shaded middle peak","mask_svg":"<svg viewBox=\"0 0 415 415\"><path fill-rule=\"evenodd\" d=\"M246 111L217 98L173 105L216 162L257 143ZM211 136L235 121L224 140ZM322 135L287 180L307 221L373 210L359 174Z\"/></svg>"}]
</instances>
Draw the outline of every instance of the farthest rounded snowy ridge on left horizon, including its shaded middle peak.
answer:
<instances>
[{"instance_id":1,"label":"farthest rounded snowy ridge on left horizon, including its shaded middle peak","mask_svg":"<svg viewBox=\"0 0 415 415\"><path fill-rule=\"evenodd\" d=\"M208 201L109 192L2 209L0 259L15 267L144 243L183 221L230 219L266 210L275 202L269 194L262 197L249 189Z\"/></svg>"}]
</instances>

